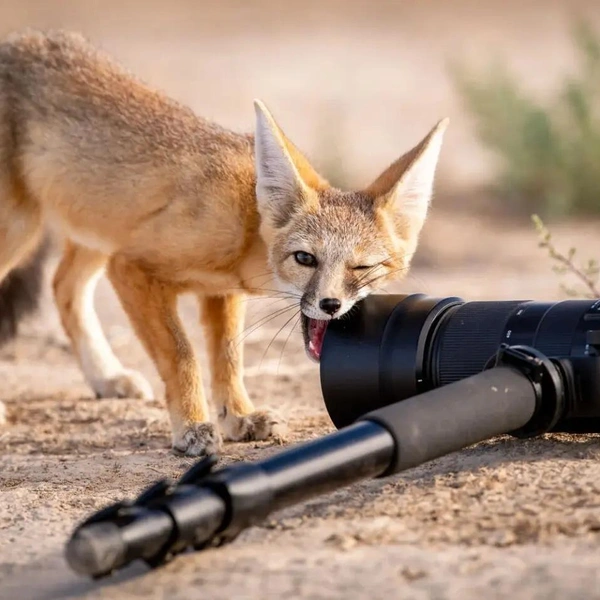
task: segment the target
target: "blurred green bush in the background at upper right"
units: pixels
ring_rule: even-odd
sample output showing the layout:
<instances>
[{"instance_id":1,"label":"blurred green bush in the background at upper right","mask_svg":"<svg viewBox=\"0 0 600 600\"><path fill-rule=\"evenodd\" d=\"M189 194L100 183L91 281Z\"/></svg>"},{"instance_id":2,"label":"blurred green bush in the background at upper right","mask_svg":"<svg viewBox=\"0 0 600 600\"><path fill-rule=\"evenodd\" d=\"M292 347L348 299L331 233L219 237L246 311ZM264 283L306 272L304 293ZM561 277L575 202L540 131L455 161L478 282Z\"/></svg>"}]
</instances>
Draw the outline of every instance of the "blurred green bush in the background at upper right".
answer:
<instances>
[{"instance_id":1,"label":"blurred green bush in the background at upper right","mask_svg":"<svg viewBox=\"0 0 600 600\"><path fill-rule=\"evenodd\" d=\"M480 141L500 159L495 191L548 218L600 214L600 36L579 22L573 40L579 68L545 103L498 61L479 76L450 67Z\"/></svg>"}]
</instances>

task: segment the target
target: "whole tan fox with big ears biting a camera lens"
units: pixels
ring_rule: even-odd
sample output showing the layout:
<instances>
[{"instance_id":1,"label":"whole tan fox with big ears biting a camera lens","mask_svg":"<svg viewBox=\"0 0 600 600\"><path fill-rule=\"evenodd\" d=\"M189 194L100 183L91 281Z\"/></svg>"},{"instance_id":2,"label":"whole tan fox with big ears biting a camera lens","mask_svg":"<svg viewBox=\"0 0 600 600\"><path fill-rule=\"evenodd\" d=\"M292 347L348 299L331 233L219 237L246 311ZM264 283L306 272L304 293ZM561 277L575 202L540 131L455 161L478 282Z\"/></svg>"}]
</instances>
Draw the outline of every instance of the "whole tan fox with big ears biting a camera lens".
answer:
<instances>
[{"instance_id":1,"label":"whole tan fox with big ears biting a camera lens","mask_svg":"<svg viewBox=\"0 0 600 600\"><path fill-rule=\"evenodd\" d=\"M439 120L368 186L342 190L264 101L253 107L253 132L221 126L77 32L0 43L3 341L38 308L54 232L53 301L87 385L97 398L155 397L103 332L94 293L106 276L160 376L180 455L285 438L285 417L257 409L245 386L245 299L275 294L295 306L318 362L328 323L409 270L448 125ZM177 312L184 293L199 306L209 394Z\"/></svg>"}]
</instances>

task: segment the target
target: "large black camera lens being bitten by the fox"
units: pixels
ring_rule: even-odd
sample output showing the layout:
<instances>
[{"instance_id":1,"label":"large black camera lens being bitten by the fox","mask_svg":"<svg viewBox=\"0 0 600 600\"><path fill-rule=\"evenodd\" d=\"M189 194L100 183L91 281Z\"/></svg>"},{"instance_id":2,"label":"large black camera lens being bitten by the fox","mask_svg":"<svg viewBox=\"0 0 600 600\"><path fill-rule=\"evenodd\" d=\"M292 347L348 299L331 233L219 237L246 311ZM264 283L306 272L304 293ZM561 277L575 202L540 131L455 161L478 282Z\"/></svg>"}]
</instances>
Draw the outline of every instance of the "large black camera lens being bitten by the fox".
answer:
<instances>
[{"instance_id":1,"label":"large black camera lens being bitten by the fox","mask_svg":"<svg viewBox=\"0 0 600 600\"><path fill-rule=\"evenodd\" d=\"M600 300L369 296L327 328L320 365L325 406L334 425L345 427L482 372L503 345L533 348L557 367L565 401L551 431L600 432Z\"/></svg>"}]
</instances>

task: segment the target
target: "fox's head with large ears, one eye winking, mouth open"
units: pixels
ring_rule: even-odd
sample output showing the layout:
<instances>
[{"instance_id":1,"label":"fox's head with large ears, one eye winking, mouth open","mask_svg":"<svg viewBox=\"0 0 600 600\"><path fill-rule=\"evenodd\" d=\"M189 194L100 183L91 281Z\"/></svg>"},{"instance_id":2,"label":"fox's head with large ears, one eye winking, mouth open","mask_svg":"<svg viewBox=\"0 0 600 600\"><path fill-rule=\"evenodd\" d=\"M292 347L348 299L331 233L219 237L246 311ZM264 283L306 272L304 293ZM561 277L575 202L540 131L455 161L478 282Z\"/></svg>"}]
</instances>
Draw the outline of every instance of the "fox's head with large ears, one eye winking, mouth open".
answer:
<instances>
[{"instance_id":1,"label":"fox's head with large ears, one eye winking, mouth open","mask_svg":"<svg viewBox=\"0 0 600 600\"><path fill-rule=\"evenodd\" d=\"M261 236L277 284L299 300L306 351L318 361L329 320L407 273L448 119L368 187L342 191L313 169L260 100L254 107Z\"/></svg>"}]
</instances>

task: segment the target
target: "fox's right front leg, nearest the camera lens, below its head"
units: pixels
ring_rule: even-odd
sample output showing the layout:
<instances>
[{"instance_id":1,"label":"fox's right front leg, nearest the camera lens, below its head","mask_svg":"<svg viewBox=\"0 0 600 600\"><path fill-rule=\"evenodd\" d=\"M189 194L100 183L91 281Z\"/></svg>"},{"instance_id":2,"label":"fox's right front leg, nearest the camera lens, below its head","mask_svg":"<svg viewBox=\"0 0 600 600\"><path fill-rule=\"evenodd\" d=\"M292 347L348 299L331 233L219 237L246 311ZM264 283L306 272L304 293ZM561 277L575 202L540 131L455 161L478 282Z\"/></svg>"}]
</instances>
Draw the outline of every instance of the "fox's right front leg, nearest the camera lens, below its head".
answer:
<instances>
[{"instance_id":1,"label":"fox's right front leg, nearest the camera lens, below its head","mask_svg":"<svg viewBox=\"0 0 600 600\"><path fill-rule=\"evenodd\" d=\"M244 385L243 296L208 296L201 297L200 302L212 374L212 400L224 439L283 439L287 432L283 417L271 409L256 410Z\"/></svg>"}]
</instances>

